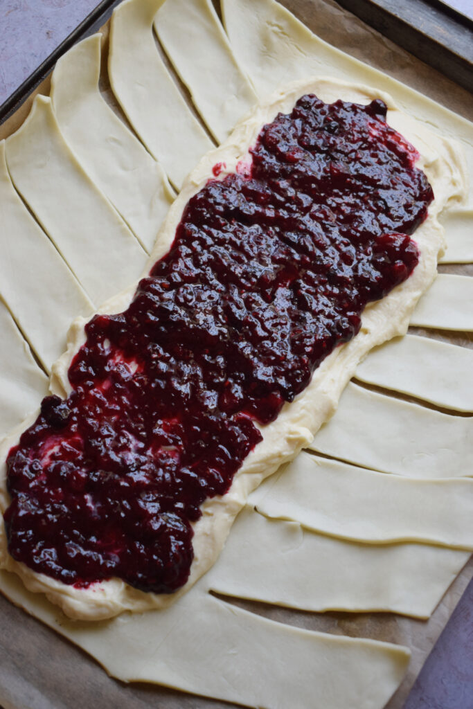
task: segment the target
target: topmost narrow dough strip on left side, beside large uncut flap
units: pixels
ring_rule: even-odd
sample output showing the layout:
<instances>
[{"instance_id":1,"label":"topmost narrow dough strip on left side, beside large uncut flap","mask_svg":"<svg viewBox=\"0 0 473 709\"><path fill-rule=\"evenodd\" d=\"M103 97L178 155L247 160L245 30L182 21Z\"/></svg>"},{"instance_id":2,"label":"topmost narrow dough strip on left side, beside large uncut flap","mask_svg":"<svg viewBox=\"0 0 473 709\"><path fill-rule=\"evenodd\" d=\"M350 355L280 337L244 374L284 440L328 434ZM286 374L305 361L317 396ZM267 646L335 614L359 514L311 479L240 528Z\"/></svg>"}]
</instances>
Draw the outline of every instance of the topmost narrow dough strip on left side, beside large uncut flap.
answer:
<instances>
[{"instance_id":1,"label":"topmost narrow dough strip on left side, beside large uncut flap","mask_svg":"<svg viewBox=\"0 0 473 709\"><path fill-rule=\"evenodd\" d=\"M222 143L257 99L211 1L165 2L155 17L155 30L208 129Z\"/></svg>"}]
</instances>

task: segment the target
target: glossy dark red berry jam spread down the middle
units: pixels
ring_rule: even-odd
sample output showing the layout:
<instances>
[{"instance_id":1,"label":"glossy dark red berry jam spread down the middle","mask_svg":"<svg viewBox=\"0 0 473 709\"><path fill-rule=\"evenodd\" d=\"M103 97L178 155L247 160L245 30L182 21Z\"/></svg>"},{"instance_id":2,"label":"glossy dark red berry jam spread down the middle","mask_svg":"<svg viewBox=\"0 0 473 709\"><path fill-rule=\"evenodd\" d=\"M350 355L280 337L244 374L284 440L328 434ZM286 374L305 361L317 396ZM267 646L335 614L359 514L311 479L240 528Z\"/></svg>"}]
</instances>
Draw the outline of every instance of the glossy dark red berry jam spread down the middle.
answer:
<instances>
[{"instance_id":1,"label":"glossy dark red berry jam spread down the middle","mask_svg":"<svg viewBox=\"0 0 473 709\"><path fill-rule=\"evenodd\" d=\"M418 262L433 199L386 106L303 96L187 204L119 315L94 317L66 401L8 458L11 555L65 584L188 578L191 523L315 367ZM221 166L215 170L218 172Z\"/></svg>"}]
</instances>

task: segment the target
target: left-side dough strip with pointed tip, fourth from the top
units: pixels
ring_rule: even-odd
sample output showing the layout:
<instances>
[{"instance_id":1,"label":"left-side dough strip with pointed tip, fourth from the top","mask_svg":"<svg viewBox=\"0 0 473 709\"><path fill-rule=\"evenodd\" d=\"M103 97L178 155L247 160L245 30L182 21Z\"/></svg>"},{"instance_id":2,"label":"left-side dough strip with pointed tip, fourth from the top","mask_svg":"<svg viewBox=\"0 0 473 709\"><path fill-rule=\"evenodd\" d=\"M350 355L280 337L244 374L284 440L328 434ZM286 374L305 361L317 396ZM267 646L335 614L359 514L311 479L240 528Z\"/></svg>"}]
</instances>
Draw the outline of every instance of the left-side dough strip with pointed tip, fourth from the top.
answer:
<instances>
[{"instance_id":1,"label":"left-side dough strip with pointed tip, fourth from the top","mask_svg":"<svg viewBox=\"0 0 473 709\"><path fill-rule=\"evenodd\" d=\"M74 159L50 99L36 96L25 123L6 140L6 162L16 189L95 305L135 280L145 251Z\"/></svg>"}]
</instances>

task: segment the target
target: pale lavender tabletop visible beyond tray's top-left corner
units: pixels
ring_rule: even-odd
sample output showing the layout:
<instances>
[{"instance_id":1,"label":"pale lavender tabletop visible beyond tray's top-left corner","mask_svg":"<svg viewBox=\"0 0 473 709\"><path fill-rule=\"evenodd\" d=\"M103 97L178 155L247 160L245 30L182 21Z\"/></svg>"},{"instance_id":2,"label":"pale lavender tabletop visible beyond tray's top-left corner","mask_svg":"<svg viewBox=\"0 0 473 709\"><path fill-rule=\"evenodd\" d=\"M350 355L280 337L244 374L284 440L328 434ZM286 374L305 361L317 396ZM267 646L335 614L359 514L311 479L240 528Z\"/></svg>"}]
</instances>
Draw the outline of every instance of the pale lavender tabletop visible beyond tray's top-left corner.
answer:
<instances>
[{"instance_id":1,"label":"pale lavender tabletop visible beyond tray's top-left corner","mask_svg":"<svg viewBox=\"0 0 473 709\"><path fill-rule=\"evenodd\" d=\"M99 0L0 0L0 106Z\"/></svg>"}]
</instances>

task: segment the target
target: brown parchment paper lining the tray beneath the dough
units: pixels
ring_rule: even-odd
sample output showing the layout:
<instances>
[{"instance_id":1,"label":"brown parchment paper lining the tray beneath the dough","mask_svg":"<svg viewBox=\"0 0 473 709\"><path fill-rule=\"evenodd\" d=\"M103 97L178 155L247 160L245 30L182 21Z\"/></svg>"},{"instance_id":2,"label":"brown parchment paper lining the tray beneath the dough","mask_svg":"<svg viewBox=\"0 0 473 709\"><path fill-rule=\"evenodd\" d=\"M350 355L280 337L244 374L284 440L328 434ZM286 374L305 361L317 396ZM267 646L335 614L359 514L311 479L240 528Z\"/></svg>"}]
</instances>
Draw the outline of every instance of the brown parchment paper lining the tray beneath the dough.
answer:
<instances>
[{"instance_id":1,"label":"brown parchment paper lining the tray beneath the dough","mask_svg":"<svg viewBox=\"0 0 473 709\"><path fill-rule=\"evenodd\" d=\"M391 43L333 0L281 1L323 40L422 91L465 118L473 119L473 97L467 91ZM108 23L103 31L108 36ZM106 51L107 43L104 43L104 55ZM49 78L45 79L35 94L48 95L49 83ZM109 104L123 118L109 90L105 72L101 89ZM0 125L0 139L11 135L23 123L33 96ZM473 276L471 265L443 266L440 270ZM467 333L417 332L473 347L473 337ZM412 659L406 678L386 706L386 709L401 709L425 658L472 576L473 559L470 559L427 622L391 613L319 614L238 599L230 601L266 618L309 630L407 645L411 648ZM111 679L82 650L2 596L0 619L0 703L4 709L229 709L236 706L143 683L126 685ZM268 653L270 661L270 649Z\"/></svg>"}]
</instances>

